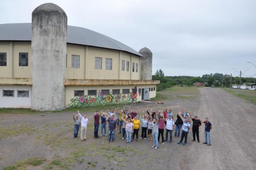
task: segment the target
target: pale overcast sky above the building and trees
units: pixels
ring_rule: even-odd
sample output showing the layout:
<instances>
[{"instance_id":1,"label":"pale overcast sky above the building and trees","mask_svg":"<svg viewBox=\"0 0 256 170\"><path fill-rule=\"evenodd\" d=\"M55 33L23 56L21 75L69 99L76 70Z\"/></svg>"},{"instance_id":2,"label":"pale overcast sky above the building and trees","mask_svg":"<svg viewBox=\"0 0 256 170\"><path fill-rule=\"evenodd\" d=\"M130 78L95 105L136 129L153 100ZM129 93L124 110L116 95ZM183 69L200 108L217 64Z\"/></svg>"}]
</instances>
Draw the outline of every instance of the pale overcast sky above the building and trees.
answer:
<instances>
[{"instance_id":1,"label":"pale overcast sky above the building and trees","mask_svg":"<svg viewBox=\"0 0 256 170\"><path fill-rule=\"evenodd\" d=\"M0 23L31 23L49 0L1 0ZM256 0L52 0L68 25L153 53L153 74L256 73ZM256 78L256 76L253 76Z\"/></svg>"}]
</instances>

